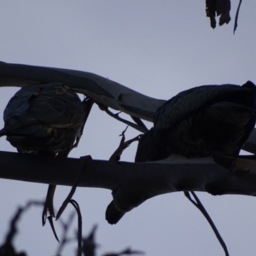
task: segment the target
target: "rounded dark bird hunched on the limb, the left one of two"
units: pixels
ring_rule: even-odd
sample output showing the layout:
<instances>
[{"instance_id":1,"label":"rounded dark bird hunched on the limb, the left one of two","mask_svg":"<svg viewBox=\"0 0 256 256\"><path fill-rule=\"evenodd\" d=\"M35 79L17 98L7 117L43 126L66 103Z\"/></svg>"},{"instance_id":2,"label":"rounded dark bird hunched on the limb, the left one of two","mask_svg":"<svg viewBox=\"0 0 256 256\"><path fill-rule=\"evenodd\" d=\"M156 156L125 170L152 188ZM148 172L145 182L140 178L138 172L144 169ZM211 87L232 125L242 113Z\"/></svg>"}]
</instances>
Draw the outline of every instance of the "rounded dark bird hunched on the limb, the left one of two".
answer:
<instances>
[{"instance_id":1,"label":"rounded dark bird hunched on the limb, the left one of two","mask_svg":"<svg viewBox=\"0 0 256 256\"><path fill-rule=\"evenodd\" d=\"M33 84L20 89L3 113L0 136L18 152L67 157L79 140L84 125L84 108L79 96L63 84ZM43 224L49 210L54 216L55 185L49 185Z\"/></svg>"}]
</instances>

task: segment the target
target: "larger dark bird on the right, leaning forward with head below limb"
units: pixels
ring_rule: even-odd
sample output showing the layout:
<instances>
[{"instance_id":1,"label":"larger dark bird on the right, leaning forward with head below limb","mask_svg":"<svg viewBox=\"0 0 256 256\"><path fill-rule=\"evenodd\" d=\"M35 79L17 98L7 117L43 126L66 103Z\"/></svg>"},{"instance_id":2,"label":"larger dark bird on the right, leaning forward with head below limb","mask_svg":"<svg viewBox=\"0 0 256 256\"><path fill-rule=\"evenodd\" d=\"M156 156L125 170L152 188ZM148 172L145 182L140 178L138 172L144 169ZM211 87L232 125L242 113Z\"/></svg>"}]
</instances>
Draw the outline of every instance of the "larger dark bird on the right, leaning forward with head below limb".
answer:
<instances>
[{"instance_id":1,"label":"larger dark bird on the right, leaning forward with head below limb","mask_svg":"<svg viewBox=\"0 0 256 256\"><path fill-rule=\"evenodd\" d=\"M222 154L237 156L255 125L256 86L204 85L172 97L154 114L154 127L140 138L136 162ZM113 201L106 218L116 224L125 212Z\"/></svg>"}]
</instances>

